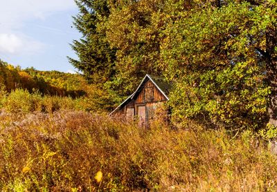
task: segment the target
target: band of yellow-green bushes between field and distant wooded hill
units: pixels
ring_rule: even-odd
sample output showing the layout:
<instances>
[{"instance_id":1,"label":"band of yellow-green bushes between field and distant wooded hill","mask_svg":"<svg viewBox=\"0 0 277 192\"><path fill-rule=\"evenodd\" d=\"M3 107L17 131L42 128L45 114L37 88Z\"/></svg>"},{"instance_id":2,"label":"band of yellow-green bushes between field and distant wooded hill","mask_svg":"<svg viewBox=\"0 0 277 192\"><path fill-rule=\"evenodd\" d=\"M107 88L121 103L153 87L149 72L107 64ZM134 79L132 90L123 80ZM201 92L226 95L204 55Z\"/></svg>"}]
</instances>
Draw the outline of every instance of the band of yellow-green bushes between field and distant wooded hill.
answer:
<instances>
[{"instance_id":1,"label":"band of yellow-green bushes between field and distant wooded hill","mask_svg":"<svg viewBox=\"0 0 277 192\"><path fill-rule=\"evenodd\" d=\"M102 109L102 107L107 107L105 101L98 103L96 99L98 97L98 93L94 92L76 98L42 95L39 91L33 90L33 93L29 93L23 88L16 88L8 93L0 84L0 113L6 111L6 113L24 115L33 112L53 113L59 110L107 113L105 109Z\"/></svg>"}]
</instances>

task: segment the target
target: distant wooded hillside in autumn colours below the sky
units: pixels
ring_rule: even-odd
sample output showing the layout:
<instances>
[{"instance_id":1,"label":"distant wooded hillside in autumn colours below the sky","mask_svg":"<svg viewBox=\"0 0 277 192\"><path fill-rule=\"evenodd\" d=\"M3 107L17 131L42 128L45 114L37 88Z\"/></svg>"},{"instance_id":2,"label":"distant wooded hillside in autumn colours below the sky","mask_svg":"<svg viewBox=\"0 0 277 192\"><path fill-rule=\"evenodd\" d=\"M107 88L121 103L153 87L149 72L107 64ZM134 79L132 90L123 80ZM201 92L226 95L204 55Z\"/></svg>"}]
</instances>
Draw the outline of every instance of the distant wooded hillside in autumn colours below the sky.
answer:
<instances>
[{"instance_id":1,"label":"distant wooded hillside in autumn colours below the sky","mask_svg":"<svg viewBox=\"0 0 277 192\"><path fill-rule=\"evenodd\" d=\"M22 70L0 60L0 84L8 92L23 88L30 93L38 91L43 95L80 97L85 95L87 84L81 75L58 71L39 71L35 68Z\"/></svg>"}]
</instances>

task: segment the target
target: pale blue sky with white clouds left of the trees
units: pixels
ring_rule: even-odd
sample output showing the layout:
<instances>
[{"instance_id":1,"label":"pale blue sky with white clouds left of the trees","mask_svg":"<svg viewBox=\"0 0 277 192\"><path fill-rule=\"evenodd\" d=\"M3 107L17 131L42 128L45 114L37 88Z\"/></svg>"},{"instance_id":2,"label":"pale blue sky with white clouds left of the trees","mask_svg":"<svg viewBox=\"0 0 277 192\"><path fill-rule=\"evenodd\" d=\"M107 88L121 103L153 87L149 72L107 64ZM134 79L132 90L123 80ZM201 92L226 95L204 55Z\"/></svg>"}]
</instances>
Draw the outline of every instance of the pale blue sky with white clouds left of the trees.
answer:
<instances>
[{"instance_id":1,"label":"pale blue sky with white clouds left of the trees","mask_svg":"<svg viewBox=\"0 0 277 192\"><path fill-rule=\"evenodd\" d=\"M76 71L66 56L81 35L73 26L73 0L0 0L0 59L21 68Z\"/></svg>"}]
</instances>

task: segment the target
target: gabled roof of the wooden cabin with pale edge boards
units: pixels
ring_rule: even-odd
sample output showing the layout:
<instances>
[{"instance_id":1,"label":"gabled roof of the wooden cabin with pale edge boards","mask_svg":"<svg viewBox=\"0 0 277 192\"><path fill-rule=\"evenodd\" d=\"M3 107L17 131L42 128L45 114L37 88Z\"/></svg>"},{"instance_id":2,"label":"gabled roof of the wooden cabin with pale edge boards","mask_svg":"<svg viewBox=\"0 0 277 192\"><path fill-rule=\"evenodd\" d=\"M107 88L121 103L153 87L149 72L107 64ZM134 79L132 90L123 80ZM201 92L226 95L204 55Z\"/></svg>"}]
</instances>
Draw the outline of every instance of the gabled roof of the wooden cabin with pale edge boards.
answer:
<instances>
[{"instance_id":1,"label":"gabled roof of the wooden cabin with pale edge boards","mask_svg":"<svg viewBox=\"0 0 277 192\"><path fill-rule=\"evenodd\" d=\"M163 96L165 96L166 99L169 100L168 94L169 94L169 91L170 91L170 84L168 84L163 77L159 77L159 76L155 76L155 75L148 75L147 74L147 75L145 75L145 77L141 81L141 84L139 84L138 88L136 88L136 91L132 95L130 95L127 99L125 99L125 101L122 102L109 115L111 115L112 113L118 111L118 109L122 108L128 102L132 101L132 99L135 99L137 97L137 95L139 95L139 93L141 92L141 90L143 89L145 83L148 80L152 81L152 83L159 89L159 91L161 91Z\"/></svg>"}]
</instances>

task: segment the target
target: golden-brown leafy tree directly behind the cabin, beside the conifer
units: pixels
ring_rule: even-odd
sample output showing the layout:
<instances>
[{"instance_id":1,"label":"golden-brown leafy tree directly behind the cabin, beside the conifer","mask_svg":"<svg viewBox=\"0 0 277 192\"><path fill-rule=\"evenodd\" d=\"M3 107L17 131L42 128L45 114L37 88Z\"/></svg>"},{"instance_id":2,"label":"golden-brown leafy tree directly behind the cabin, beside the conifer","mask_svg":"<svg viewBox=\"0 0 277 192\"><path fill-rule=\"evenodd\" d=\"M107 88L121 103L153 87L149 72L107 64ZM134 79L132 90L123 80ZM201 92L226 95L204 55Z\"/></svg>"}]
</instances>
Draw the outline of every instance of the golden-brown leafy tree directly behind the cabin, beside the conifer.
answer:
<instances>
[{"instance_id":1,"label":"golden-brown leafy tree directly behind the cabin, beside the conifer","mask_svg":"<svg viewBox=\"0 0 277 192\"><path fill-rule=\"evenodd\" d=\"M132 0L110 3L107 39L116 48L116 88L128 95L145 74L163 75L161 42L163 31L175 13L193 7L193 1ZM195 3L196 4L196 3ZM174 5L174 6L173 6Z\"/></svg>"}]
</instances>

